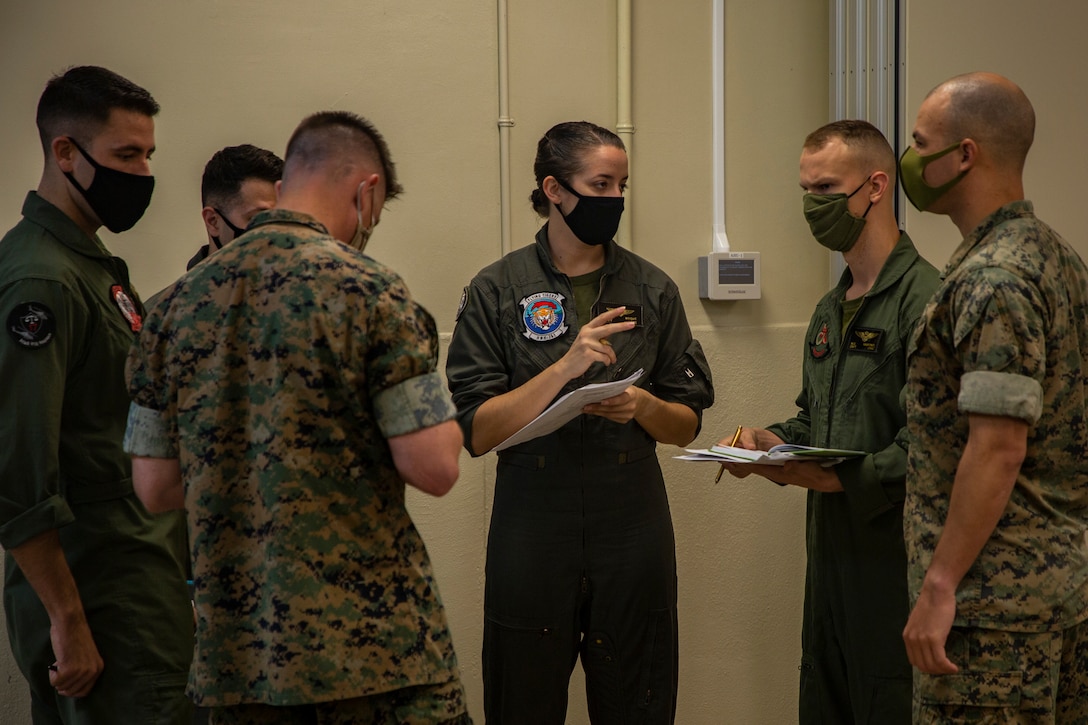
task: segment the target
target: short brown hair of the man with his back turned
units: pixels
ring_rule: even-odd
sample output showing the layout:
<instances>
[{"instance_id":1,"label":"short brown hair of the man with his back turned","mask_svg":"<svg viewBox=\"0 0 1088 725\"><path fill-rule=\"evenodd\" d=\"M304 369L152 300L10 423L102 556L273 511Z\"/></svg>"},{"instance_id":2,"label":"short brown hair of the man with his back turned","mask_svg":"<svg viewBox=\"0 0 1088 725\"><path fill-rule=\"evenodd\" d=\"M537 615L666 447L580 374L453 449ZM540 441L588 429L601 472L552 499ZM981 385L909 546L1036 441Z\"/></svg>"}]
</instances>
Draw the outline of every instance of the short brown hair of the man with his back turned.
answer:
<instances>
[{"instance_id":1,"label":"short brown hair of the man with his back turned","mask_svg":"<svg viewBox=\"0 0 1088 725\"><path fill-rule=\"evenodd\" d=\"M404 192L385 138L370 121L348 111L321 111L304 119L287 142L284 159L288 175L296 168L346 173L353 156L381 165L386 199Z\"/></svg>"}]
</instances>

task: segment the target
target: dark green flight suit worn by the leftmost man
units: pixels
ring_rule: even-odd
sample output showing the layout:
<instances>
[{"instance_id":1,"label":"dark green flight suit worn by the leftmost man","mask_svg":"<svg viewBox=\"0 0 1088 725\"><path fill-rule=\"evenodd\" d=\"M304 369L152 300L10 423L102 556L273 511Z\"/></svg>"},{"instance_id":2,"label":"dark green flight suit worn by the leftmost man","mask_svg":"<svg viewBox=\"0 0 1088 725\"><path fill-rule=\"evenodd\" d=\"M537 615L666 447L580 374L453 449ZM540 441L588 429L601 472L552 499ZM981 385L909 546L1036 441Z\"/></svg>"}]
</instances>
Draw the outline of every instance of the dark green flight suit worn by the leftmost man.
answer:
<instances>
[{"instance_id":1,"label":"dark green flight suit worn by the leftmost man","mask_svg":"<svg viewBox=\"0 0 1088 725\"><path fill-rule=\"evenodd\" d=\"M193 658L180 513L148 514L121 448L124 360L143 307L98 238L30 193L0 241L0 545L50 529L104 669L85 698L49 685L49 617L9 553L4 610L35 723L187 723Z\"/></svg>"}]
</instances>

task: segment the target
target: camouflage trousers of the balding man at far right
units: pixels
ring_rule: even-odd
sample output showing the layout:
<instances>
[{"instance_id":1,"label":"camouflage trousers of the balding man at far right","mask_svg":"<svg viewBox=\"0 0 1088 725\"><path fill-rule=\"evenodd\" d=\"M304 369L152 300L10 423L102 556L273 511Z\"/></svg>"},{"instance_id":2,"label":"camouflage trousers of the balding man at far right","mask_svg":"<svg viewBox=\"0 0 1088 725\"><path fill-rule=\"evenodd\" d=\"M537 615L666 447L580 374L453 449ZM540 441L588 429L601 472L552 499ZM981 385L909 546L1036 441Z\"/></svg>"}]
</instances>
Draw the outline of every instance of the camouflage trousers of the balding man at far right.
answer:
<instances>
[{"instance_id":1,"label":"camouflage trousers of the balding man at far right","mask_svg":"<svg viewBox=\"0 0 1088 725\"><path fill-rule=\"evenodd\" d=\"M1042 632L953 627L960 672L914 672L915 725L1088 725L1088 622Z\"/></svg>"}]
</instances>

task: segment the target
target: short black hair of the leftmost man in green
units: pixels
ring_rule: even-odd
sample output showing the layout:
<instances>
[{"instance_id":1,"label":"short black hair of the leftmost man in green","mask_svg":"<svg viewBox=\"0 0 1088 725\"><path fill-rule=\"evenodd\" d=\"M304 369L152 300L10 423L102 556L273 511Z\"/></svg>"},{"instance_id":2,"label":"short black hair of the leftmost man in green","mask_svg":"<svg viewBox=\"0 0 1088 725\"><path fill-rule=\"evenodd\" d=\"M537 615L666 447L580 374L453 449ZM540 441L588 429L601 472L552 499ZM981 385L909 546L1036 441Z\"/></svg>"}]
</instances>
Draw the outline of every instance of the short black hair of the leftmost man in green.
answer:
<instances>
[{"instance_id":1,"label":"short black hair of the leftmost man in green","mask_svg":"<svg viewBox=\"0 0 1088 725\"><path fill-rule=\"evenodd\" d=\"M54 75L38 99L36 116L46 157L58 136L88 143L109 122L113 109L153 116L159 103L128 78L98 65L70 67Z\"/></svg>"}]
</instances>

